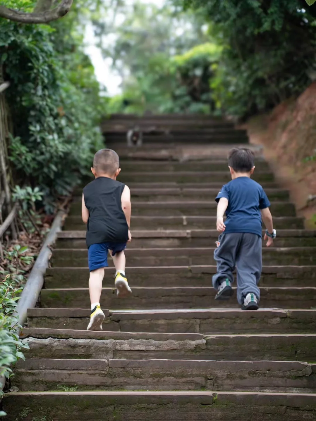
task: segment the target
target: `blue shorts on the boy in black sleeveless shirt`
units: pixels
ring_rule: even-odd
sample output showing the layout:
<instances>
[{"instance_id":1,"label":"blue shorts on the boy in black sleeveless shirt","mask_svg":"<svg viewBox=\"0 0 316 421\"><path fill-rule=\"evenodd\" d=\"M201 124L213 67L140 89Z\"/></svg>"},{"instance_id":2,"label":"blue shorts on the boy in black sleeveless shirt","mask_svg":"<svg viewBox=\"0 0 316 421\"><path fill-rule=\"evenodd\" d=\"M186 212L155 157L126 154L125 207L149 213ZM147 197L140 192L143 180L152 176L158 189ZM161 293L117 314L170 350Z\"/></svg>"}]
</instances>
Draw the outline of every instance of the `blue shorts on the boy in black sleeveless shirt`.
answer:
<instances>
[{"instance_id":1,"label":"blue shorts on the boy in black sleeveless shirt","mask_svg":"<svg viewBox=\"0 0 316 421\"><path fill-rule=\"evenodd\" d=\"M112 256L126 248L126 242L102 242L91 244L88 248L88 265L90 272L101 267L109 266L107 264L107 251L112 251Z\"/></svg>"}]
</instances>

